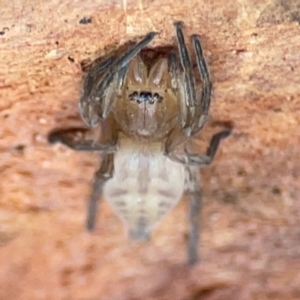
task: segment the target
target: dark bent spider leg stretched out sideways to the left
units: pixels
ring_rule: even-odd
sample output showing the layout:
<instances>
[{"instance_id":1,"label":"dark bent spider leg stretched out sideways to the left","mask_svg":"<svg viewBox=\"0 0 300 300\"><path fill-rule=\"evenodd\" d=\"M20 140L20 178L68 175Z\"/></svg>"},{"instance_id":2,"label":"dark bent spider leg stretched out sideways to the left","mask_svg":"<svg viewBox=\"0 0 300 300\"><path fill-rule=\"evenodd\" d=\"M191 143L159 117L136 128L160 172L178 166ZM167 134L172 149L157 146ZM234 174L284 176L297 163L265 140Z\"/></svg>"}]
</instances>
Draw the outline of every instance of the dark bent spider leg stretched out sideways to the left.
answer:
<instances>
[{"instance_id":1,"label":"dark bent spider leg stretched out sideways to the left","mask_svg":"<svg viewBox=\"0 0 300 300\"><path fill-rule=\"evenodd\" d=\"M115 152L118 146L118 136L113 116L101 123L101 129L100 140L92 139L90 129L68 128L52 131L48 135L48 141L51 144L60 142L77 151Z\"/></svg>"}]
</instances>

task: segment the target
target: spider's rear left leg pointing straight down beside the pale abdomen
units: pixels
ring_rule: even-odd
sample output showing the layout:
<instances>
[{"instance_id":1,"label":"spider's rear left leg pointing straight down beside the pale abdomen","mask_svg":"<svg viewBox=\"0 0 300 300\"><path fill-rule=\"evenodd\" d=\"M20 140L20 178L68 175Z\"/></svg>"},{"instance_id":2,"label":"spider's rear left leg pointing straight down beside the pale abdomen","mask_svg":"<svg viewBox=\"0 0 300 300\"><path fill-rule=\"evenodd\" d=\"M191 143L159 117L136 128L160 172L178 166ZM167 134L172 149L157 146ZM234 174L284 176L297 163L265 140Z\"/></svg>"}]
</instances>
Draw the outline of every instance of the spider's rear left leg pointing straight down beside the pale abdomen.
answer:
<instances>
[{"instance_id":1,"label":"spider's rear left leg pointing straight down beside the pale abdomen","mask_svg":"<svg viewBox=\"0 0 300 300\"><path fill-rule=\"evenodd\" d=\"M95 227L97 210L101 200L104 184L112 178L114 166L114 155L112 153L104 154L99 170L94 175L94 183L91 195L88 201L86 228L92 231Z\"/></svg>"}]
</instances>

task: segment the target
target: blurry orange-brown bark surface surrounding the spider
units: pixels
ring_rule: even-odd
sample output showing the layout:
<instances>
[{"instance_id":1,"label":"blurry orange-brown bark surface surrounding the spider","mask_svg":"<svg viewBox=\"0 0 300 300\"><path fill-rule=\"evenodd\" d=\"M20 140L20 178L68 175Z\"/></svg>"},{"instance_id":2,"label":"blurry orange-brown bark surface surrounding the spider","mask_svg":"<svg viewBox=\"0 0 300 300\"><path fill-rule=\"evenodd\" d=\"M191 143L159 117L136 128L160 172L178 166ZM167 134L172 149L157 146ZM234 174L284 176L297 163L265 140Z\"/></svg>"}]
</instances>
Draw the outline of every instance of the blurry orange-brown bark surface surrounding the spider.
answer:
<instances>
[{"instance_id":1,"label":"blurry orange-brown bark surface surrounding the spider","mask_svg":"<svg viewBox=\"0 0 300 300\"><path fill-rule=\"evenodd\" d=\"M300 298L300 2L224 3L0 0L1 300ZM82 61L149 31L174 44L175 20L201 35L212 119L234 123L202 170L193 269L185 200L151 243L130 244L105 201L88 234L97 154L47 143L82 124Z\"/></svg>"}]
</instances>

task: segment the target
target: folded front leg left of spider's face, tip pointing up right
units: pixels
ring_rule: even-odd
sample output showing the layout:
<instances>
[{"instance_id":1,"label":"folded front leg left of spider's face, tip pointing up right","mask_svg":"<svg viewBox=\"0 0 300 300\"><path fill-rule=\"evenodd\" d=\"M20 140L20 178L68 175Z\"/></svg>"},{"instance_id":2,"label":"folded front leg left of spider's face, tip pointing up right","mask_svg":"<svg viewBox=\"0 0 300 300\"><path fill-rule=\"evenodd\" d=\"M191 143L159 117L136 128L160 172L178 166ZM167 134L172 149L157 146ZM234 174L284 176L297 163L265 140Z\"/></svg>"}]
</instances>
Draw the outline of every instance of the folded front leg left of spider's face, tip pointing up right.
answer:
<instances>
[{"instance_id":1,"label":"folded front leg left of spider's face, tip pointing up right","mask_svg":"<svg viewBox=\"0 0 300 300\"><path fill-rule=\"evenodd\" d=\"M155 35L155 32L148 33L139 43L123 53L120 58L115 59L101 78L95 81L90 80L87 84L89 93L81 97L79 110L88 126L96 127L101 120L108 116L116 100L115 89L122 87L128 64L135 55L153 40Z\"/></svg>"}]
</instances>

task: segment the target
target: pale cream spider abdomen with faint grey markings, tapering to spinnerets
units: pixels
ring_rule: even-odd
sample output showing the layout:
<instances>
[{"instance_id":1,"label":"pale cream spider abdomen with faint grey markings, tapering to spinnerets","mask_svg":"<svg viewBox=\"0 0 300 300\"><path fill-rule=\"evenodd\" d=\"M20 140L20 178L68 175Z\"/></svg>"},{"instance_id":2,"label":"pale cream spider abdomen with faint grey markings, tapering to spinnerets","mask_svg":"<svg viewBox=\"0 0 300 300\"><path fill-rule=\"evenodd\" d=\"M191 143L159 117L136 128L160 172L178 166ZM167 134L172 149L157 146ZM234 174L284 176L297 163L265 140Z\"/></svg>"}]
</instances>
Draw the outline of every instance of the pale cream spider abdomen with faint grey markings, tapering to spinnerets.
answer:
<instances>
[{"instance_id":1,"label":"pale cream spider abdomen with faint grey markings, tapering to spinnerets","mask_svg":"<svg viewBox=\"0 0 300 300\"><path fill-rule=\"evenodd\" d=\"M158 221L180 200L184 166L164 156L160 143L122 139L114 168L104 196L127 225L129 237L146 240Z\"/></svg>"}]
</instances>

